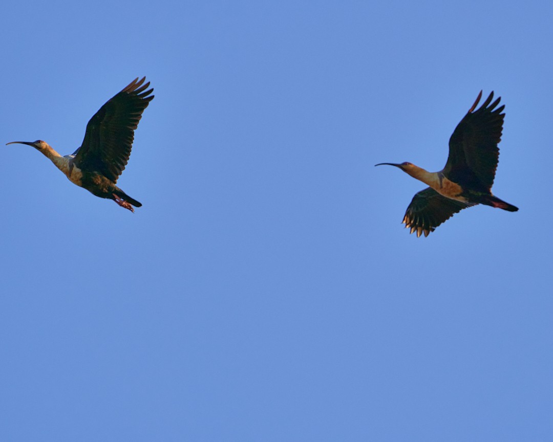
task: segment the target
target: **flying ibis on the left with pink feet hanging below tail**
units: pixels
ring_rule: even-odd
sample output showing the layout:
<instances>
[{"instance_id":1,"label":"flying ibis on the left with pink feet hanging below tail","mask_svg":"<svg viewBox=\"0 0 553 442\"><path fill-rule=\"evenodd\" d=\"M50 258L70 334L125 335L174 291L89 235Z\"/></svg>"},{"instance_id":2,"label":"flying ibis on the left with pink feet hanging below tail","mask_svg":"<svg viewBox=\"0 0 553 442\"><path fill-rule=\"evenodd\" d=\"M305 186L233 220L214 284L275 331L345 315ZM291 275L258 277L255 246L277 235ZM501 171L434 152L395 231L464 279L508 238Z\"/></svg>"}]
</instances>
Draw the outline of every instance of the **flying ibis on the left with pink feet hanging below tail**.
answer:
<instances>
[{"instance_id":1,"label":"flying ibis on the left with pink feet hanging below tail","mask_svg":"<svg viewBox=\"0 0 553 442\"><path fill-rule=\"evenodd\" d=\"M69 180L100 198L113 199L119 206L134 212L140 207L116 186L125 169L142 112L154 98L150 83L136 78L121 92L109 99L86 125L81 147L71 155L61 156L43 140L12 141L27 144L47 156Z\"/></svg>"}]
</instances>

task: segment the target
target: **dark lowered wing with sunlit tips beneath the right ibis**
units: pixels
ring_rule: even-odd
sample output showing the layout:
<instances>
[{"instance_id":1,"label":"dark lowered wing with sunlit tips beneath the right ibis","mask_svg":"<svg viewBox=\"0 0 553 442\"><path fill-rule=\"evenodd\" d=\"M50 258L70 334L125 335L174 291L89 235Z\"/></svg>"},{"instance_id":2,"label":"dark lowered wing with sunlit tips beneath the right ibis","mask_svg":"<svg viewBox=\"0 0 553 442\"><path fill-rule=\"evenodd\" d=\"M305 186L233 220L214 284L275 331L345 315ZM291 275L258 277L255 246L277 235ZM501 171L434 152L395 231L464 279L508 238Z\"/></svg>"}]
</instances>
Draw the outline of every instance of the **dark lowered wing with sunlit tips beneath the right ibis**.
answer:
<instances>
[{"instance_id":1,"label":"dark lowered wing with sunlit tips beneath the right ibis","mask_svg":"<svg viewBox=\"0 0 553 442\"><path fill-rule=\"evenodd\" d=\"M405 212L403 223L405 223L405 227L411 229L410 233L416 231L418 237L422 233L424 236L428 236L431 231L451 218L453 214L473 205L446 198L434 189L427 187L425 190L415 193L413 201Z\"/></svg>"}]
</instances>

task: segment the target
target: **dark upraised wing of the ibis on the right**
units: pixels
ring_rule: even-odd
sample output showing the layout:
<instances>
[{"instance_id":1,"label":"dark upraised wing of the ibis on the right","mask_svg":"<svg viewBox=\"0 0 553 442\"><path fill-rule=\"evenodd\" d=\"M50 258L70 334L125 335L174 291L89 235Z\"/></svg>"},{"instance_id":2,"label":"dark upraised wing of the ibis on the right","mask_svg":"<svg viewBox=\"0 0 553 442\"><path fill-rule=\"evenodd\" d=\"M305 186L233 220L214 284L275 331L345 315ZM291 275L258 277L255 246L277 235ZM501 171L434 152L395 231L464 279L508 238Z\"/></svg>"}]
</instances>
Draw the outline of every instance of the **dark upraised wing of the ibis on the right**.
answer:
<instances>
[{"instance_id":1,"label":"dark upraised wing of the ibis on the right","mask_svg":"<svg viewBox=\"0 0 553 442\"><path fill-rule=\"evenodd\" d=\"M482 91L451 135L444 175L461 186L480 187L482 191L489 191L499 160L497 145L501 140L505 117L501 112L505 106L495 109L501 98L492 103L492 92L482 106L473 112L481 97Z\"/></svg>"}]
</instances>

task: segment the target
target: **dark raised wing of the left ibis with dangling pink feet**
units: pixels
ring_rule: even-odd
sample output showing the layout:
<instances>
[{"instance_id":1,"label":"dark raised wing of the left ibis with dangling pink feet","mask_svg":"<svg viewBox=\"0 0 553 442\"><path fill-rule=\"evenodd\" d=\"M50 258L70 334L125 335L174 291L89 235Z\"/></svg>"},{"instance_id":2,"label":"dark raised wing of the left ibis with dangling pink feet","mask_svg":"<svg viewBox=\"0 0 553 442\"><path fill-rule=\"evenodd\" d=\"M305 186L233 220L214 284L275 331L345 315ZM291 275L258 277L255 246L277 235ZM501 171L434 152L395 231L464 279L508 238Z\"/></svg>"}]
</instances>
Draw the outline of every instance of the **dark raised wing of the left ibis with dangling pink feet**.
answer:
<instances>
[{"instance_id":1,"label":"dark raised wing of the left ibis with dangling pink feet","mask_svg":"<svg viewBox=\"0 0 553 442\"><path fill-rule=\"evenodd\" d=\"M142 112L154 98L153 89L144 91L150 83L136 78L104 104L86 125L85 139L74 153L75 165L81 170L96 171L109 180L125 169Z\"/></svg>"}]
</instances>

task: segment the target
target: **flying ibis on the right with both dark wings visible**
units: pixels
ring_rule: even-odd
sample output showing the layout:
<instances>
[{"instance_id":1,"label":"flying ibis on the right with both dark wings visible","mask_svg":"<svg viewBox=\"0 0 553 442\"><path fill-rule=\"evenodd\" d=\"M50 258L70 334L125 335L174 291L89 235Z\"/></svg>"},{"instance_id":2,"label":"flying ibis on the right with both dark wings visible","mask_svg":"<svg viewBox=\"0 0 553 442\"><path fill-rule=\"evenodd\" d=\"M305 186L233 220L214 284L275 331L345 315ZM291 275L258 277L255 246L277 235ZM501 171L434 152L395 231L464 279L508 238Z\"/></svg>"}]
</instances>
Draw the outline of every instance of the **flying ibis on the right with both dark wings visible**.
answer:
<instances>
[{"instance_id":1,"label":"flying ibis on the right with both dark wings visible","mask_svg":"<svg viewBox=\"0 0 553 442\"><path fill-rule=\"evenodd\" d=\"M476 204L518 211L491 192L499 160L497 145L501 140L505 106L497 107L501 98L492 103L492 91L474 111L481 98L482 91L453 131L446 166L440 172L427 172L410 162L377 164L399 167L430 186L415 194L403 218L405 227L411 229L410 233L416 231L418 237L422 233L428 236L453 214Z\"/></svg>"}]
</instances>

